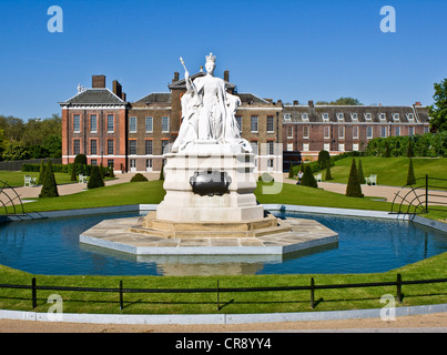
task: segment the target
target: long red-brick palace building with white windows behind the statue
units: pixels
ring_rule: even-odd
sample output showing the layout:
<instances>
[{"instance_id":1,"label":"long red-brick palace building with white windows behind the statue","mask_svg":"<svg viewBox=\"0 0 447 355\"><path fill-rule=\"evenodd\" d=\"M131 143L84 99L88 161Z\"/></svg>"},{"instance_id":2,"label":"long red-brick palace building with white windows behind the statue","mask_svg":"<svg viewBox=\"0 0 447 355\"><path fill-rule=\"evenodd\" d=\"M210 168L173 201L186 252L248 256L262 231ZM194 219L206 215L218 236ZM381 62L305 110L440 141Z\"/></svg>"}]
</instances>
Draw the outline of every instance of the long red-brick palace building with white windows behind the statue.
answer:
<instances>
[{"instance_id":1,"label":"long red-brick palace building with white windows behind the statue","mask_svg":"<svg viewBox=\"0 0 447 355\"><path fill-rule=\"evenodd\" d=\"M201 70L191 79L205 75ZM377 136L424 134L428 110L408 106L283 104L253 93L238 93L224 72L228 92L240 97L236 112L241 134L257 155L258 172L288 170L289 161L314 160L321 150L332 155L362 151ZM85 154L89 164L113 164L116 172L160 171L181 124L180 99L185 80L174 73L169 92L153 92L134 102L118 81L93 75L92 88L59 102L62 109L62 163ZM283 158L284 153L284 158ZM284 161L283 161L284 160ZM283 165L284 164L284 165Z\"/></svg>"}]
</instances>

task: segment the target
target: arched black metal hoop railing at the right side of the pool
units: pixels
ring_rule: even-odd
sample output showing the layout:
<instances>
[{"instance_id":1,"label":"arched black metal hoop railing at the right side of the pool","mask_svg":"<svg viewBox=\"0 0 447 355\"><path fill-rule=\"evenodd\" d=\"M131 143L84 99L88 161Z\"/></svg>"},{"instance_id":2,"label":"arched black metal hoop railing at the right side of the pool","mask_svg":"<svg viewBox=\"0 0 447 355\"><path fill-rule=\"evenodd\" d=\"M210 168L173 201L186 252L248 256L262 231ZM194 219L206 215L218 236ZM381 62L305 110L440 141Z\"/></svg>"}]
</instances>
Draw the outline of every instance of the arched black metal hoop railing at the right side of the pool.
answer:
<instances>
[{"instance_id":1,"label":"arched black metal hoop railing at the right side of the pool","mask_svg":"<svg viewBox=\"0 0 447 355\"><path fill-rule=\"evenodd\" d=\"M447 211L439 206L447 206L447 179L425 175L416 179L415 184L400 187L394 196L389 213L415 215L429 211Z\"/></svg>"}]
</instances>

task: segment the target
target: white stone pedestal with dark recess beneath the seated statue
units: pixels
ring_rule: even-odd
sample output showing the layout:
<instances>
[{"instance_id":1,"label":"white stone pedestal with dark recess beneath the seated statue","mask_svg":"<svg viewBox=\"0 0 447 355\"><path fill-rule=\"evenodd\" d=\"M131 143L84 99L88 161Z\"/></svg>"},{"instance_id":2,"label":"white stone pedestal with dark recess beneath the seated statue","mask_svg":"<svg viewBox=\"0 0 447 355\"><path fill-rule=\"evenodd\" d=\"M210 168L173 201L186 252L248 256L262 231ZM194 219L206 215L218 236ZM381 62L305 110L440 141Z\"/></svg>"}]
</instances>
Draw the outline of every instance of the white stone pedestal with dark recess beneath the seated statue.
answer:
<instances>
[{"instance_id":1,"label":"white stone pedestal with dark recess beneath the seated statue","mask_svg":"<svg viewBox=\"0 0 447 355\"><path fill-rule=\"evenodd\" d=\"M243 152L240 145L196 142L165 158L163 187L166 195L156 209L156 220L243 222L264 219L264 209L253 194L256 189L254 154ZM207 193L193 191L191 178L196 173L202 174L196 181L197 190ZM216 181L219 175L222 181ZM225 187L225 182L230 184L222 193L217 185Z\"/></svg>"}]
</instances>

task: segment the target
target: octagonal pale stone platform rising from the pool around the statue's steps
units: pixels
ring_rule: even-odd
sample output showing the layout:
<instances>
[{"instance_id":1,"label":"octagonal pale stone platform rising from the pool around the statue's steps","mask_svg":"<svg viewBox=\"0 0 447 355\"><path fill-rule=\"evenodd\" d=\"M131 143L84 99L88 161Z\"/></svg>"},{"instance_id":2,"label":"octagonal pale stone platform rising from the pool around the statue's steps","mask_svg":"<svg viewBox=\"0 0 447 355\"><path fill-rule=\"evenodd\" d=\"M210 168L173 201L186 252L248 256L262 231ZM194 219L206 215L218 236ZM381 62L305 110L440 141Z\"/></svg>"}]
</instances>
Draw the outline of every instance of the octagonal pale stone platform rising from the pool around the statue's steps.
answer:
<instances>
[{"instance_id":1,"label":"octagonal pale stone platform rising from the pool around the statue's steps","mask_svg":"<svg viewBox=\"0 0 447 355\"><path fill-rule=\"evenodd\" d=\"M338 235L323 224L303 219L278 220L287 231L256 237L165 237L143 229L142 217L105 220L83 232L80 242L135 255L282 255L333 244Z\"/></svg>"}]
</instances>

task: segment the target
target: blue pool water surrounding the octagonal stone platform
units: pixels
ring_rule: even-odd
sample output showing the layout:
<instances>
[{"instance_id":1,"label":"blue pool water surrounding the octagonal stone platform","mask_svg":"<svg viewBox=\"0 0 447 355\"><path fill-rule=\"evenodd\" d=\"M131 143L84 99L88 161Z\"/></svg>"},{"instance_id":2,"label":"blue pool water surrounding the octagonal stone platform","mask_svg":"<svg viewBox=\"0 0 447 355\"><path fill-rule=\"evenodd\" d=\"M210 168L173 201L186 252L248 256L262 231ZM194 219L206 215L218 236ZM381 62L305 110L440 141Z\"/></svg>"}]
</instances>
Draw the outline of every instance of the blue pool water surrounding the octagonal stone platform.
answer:
<instances>
[{"instance_id":1,"label":"blue pool water surrounding the octagonal stone platform","mask_svg":"<svg viewBox=\"0 0 447 355\"><path fill-rule=\"evenodd\" d=\"M79 243L102 220L138 214L0 224L0 264L47 275L376 273L447 251L446 233L415 223L302 213L286 215L318 221L338 233L338 243L283 257L134 256Z\"/></svg>"}]
</instances>

